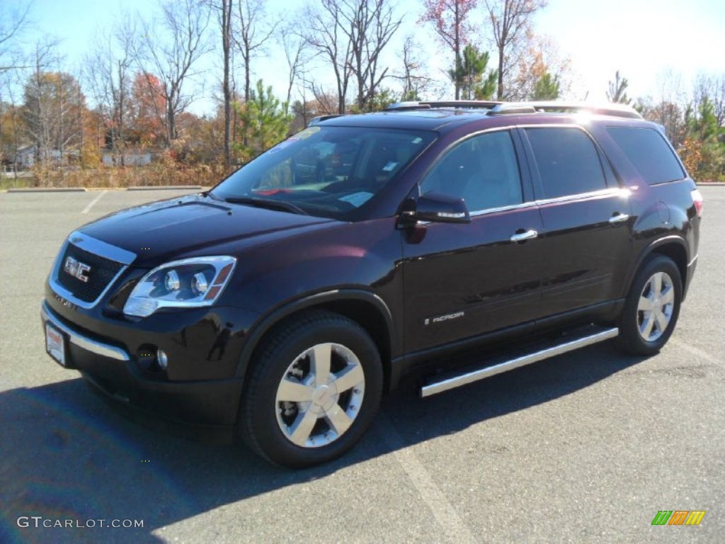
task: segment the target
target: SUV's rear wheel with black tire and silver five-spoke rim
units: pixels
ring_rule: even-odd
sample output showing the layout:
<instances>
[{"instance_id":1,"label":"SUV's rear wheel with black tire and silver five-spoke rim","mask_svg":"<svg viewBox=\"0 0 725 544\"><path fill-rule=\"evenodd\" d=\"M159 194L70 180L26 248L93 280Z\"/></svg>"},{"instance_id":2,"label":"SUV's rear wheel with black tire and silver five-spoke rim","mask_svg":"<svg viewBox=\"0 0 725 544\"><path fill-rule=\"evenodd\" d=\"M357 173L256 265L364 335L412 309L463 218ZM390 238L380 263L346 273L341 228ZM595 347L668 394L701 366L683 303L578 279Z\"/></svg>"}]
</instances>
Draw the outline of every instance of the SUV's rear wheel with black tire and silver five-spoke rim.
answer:
<instances>
[{"instance_id":1,"label":"SUV's rear wheel with black tire and silver five-spoke rim","mask_svg":"<svg viewBox=\"0 0 725 544\"><path fill-rule=\"evenodd\" d=\"M664 304L663 308L653 313L651 310L642 310L639 305L640 297L652 299L653 290L655 289L653 282L656 283L655 275L660 277L662 286L666 286L668 281L671 285L661 289L661 297L658 295L654 298L657 299L659 305L660 300L669 300L671 296L671 306L668 307L668 304L662 302ZM671 287L671 295L667 294L669 287ZM653 257L647 259L637 275L634 276L634 281L632 281L624 302L624 310L622 310L619 319L619 347L632 355L654 355L658 353L667 343L672 331L674 331L681 302L682 278L677 265L664 255L653 255ZM668 320L663 330L658 320L651 317L659 313ZM649 329L649 333L647 333L647 318L653 319L653 325Z\"/></svg>"}]
</instances>

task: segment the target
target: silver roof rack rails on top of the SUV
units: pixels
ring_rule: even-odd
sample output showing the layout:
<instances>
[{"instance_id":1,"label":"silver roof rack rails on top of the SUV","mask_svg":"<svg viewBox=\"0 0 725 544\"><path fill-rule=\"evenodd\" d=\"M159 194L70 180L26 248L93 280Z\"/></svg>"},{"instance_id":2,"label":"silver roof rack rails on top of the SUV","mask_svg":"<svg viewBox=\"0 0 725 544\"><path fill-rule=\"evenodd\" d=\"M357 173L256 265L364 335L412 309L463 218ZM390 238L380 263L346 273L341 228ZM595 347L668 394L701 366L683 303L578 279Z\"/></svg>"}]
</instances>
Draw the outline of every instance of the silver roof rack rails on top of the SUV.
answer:
<instances>
[{"instance_id":1,"label":"silver roof rack rails on top of the SUV","mask_svg":"<svg viewBox=\"0 0 725 544\"><path fill-rule=\"evenodd\" d=\"M431 110L433 108L452 108L460 110L488 110L487 115L521 115L526 113L591 113L595 115L610 115L612 117L642 119L637 110L626 104L611 102L564 102L564 101L534 101L534 102L497 102L487 100L447 100L447 101L421 101L397 102L386 107L385 111L399 112L405 110Z\"/></svg>"}]
</instances>

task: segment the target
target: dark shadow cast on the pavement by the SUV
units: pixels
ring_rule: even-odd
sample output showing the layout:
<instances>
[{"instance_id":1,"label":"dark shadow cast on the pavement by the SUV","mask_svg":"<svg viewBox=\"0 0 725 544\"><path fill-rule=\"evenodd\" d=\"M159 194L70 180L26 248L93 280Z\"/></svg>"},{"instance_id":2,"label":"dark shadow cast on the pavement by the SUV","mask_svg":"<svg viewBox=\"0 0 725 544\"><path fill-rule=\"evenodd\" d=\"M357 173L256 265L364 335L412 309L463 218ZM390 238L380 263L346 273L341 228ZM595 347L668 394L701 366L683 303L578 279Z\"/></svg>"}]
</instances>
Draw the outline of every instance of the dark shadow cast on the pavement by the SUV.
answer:
<instances>
[{"instance_id":1,"label":"dark shadow cast on the pavement by the SUV","mask_svg":"<svg viewBox=\"0 0 725 544\"><path fill-rule=\"evenodd\" d=\"M546 403L641 360L607 343L426 400L392 395L352 452L302 471L270 466L241 446L192 442L132 424L82 379L7 390L0 393L0 542L161 542L152 531ZM20 516L28 527L19 527ZM38 520L36 528L31 516L80 520L81 527L96 520L96 527L43 528L48 522ZM143 520L144 526L101 529L100 519Z\"/></svg>"}]
</instances>

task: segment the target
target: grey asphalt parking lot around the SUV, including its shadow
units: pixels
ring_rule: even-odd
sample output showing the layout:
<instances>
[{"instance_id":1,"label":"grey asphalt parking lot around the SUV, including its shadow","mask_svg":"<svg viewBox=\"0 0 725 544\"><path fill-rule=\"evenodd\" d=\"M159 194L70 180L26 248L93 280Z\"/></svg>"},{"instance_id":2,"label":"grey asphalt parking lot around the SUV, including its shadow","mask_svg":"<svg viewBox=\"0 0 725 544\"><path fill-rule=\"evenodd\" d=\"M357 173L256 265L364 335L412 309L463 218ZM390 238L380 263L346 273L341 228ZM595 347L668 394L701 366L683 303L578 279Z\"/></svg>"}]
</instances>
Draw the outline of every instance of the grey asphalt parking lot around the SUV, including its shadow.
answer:
<instances>
[{"instance_id":1,"label":"grey asphalt parking lot around the SUV, including its shadow","mask_svg":"<svg viewBox=\"0 0 725 544\"><path fill-rule=\"evenodd\" d=\"M725 187L701 190L697 273L662 353L605 343L388 397L352 453L305 471L136 426L45 353L65 236L180 192L0 193L0 543L723 542ZM652 526L660 510L706 514ZM77 521L43 527L57 519Z\"/></svg>"}]
</instances>

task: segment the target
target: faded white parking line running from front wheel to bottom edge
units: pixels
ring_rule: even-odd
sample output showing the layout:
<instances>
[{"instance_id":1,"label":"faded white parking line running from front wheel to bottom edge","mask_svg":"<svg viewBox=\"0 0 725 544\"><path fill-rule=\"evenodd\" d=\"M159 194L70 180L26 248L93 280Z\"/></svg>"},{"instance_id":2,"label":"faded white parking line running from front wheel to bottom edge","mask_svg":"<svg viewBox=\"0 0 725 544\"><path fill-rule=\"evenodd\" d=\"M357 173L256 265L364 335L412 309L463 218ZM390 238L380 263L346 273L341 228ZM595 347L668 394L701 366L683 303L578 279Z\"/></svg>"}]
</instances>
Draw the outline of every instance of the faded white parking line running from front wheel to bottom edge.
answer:
<instances>
[{"instance_id":1,"label":"faded white parking line running from front wheel to bottom edge","mask_svg":"<svg viewBox=\"0 0 725 544\"><path fill-rule=\"evenodd\" d=\"M415 485L415 489L421 494L421 498L428 505L436 522L442 528L442 535L447 535L448 540L460 543L476 543L477 540L471 534L468 526L460 519L455 508L451 506L443 492L431 478L431 474L423 466L418 456L413 453L413 449L405 443L399 432L387 418L387 416L378 412L378 424L382 427L384 440L388 447L393 450L393 456L398 460L403 470ZM436 541L441 541L438 538Z\"/></svg>"}]
</instances>

